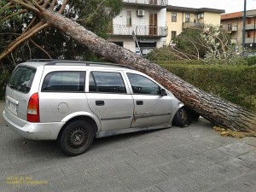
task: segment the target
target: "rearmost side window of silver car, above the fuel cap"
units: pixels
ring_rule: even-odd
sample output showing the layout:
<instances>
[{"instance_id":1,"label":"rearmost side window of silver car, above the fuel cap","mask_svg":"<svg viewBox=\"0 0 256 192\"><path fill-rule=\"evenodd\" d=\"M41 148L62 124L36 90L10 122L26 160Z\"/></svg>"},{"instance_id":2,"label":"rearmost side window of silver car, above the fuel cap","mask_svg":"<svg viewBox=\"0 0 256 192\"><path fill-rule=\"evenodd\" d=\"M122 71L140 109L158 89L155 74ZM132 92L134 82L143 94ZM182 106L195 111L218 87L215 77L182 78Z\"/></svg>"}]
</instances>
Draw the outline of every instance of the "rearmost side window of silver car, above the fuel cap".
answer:
<instances>
[{"instance_id":1,"label":"rearmost side window of silver car, above the fuel cap","mask_svg":"<svg viewBox=\"0 0 256 192\"><path fill-rule=\"evenodd\" d=\"M84 72L52 72L44 78L43 92L84 91Z\"/></svg>"}]
</instances>

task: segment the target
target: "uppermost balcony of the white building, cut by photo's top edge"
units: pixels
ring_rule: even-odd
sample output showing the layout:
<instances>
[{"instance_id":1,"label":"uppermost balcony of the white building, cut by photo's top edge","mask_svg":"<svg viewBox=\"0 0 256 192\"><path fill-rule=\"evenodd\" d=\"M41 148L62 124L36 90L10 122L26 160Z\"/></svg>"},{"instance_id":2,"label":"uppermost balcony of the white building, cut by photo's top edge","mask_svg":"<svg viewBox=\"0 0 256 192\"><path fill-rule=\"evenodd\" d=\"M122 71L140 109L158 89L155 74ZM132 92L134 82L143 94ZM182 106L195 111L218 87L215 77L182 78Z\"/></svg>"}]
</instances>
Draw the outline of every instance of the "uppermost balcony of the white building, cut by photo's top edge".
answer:
<instances>
[{"instance_id":1,"label":"uppermost balcony of the white building, cut by photo's top edge","mask_svg":"<svg viewBox=\"0 0 256 192\"><path fill-rule=\"evenodd\" d=\"M156 9L163 9L167 6L167 0L123 0L123 3Z\"/></svg>"}]
</instances>

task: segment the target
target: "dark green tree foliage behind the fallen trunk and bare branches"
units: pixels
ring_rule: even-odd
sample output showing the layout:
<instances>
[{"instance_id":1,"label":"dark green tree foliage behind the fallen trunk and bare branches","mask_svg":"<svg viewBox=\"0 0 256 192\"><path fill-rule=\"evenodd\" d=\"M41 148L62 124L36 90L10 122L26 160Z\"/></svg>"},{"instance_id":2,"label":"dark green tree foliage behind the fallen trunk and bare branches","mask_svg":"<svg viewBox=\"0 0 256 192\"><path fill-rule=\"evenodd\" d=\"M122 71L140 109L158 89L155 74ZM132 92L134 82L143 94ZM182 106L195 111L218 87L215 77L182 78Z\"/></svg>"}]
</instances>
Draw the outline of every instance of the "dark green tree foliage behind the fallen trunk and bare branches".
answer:
<instances>
[{"instance_id":1,"label":"dark green tree foliage behind the fallen trunk and bare branches","mask_svg":"<svg viewBox=\"0 0 256 192\"><path fill-rule=\"evenodd\" d=\"M63 1L57 1L55 11L61 8ZM29 12L17 14L20 7L8 8L5 6L7 1L1 1L0 8L0 53L26 30L34 15ZM88 30L95 32L102 38L108 37L108 26L115 15L119 14L122 8L121 0L77 0L69 1L64 14L71 20L76 20L80 25ZM20 63L32 58L49 58L42 49L44 49L52 58L70 59L70 60L96 60L96 55L92 55L89 49L77 44L73 38L67 37L63 32L55 28L47 28L38 32L32 41L26 41L12 52L12 55L4 58L2 64Z\"/></svg>"}]
</instances>

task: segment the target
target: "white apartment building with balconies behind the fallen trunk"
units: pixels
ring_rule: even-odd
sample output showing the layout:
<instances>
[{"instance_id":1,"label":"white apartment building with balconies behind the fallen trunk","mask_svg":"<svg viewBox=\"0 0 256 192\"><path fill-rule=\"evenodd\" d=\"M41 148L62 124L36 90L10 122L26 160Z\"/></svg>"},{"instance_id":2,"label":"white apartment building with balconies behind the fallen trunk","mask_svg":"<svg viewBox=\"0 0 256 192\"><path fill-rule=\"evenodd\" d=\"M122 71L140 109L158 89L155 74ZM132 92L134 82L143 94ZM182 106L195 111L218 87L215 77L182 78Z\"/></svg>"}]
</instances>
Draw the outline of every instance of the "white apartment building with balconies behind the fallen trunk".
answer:
<instances>
[{"instance_id":1,"label":"white apartment building with balconies behind the fallen trunk","mask_svg":"<svg viewBox=\"0 0 256 192\"><path fill-rule=\"evenodd\" d=\"M110 26L108 41L137 53L140 47L143 55L164 46L168 32L166 5L167 0L123 0L123 9Z\"/></svg>"}]
</instances>

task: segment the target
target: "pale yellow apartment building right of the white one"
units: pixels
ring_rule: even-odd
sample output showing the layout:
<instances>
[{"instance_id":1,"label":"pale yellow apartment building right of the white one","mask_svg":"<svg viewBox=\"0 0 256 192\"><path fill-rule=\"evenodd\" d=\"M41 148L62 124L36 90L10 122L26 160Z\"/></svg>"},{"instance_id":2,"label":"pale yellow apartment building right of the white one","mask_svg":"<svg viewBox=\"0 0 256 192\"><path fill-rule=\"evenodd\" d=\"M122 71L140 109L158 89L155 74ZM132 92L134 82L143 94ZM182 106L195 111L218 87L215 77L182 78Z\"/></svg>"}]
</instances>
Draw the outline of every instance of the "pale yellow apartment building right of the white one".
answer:
<instances>
[{"instance_id":1,"label":"pale yellow apartment building right of the white one","mask_svg":"<svg viewBox=\"0 0 256 192\"><path fill-rule=\"evenodd\" d=\"M191 26L203 26L211 24L220 26L220 15L223 9L194 9L168 5L166 8L166 26L169 29L166 37L166 44L173 44L172 39L184 28Z\"/></svg>"}]
</instances>

